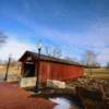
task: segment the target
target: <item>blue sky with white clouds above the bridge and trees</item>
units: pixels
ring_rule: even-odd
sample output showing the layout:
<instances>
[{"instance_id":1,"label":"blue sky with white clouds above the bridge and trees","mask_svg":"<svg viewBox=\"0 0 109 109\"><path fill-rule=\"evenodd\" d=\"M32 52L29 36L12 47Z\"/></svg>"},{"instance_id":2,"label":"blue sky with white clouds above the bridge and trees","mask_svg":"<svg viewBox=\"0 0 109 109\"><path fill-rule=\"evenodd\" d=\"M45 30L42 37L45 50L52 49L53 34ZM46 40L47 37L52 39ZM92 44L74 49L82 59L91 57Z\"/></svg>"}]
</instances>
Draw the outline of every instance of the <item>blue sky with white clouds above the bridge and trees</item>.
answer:
<instances>
[{"instance_id":1,"label":"blue sky with white clouds above the bridge and trees","mask_svg":"<svg viewBox=\"0 0 109 109\"><path fill-rule=\"evenodd\" d=\"M81 60L86 50L109 61L109 0L0 0L0 31L9 36L0 58L19 59L36 43Z\"/></svg>"}]
</instances>

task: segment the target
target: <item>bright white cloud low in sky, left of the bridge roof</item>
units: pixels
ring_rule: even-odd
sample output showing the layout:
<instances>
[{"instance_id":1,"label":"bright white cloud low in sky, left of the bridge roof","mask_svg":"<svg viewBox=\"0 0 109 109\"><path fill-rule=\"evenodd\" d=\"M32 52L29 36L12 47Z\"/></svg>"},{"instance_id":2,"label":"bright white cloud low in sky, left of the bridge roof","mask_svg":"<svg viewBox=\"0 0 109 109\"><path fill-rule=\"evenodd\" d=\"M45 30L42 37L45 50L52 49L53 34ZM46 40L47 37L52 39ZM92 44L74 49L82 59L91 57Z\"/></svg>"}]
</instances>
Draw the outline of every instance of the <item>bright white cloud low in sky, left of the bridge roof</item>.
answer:
<instances>
[{"instance_id":1,"label":"bright white cloud low in sky, left of the bridge roof","mask_svg":"<svg viewBox=\"0 0 109 109\"><path fill-rule=\"evenodd\" d=\"M0 59L7 60L11 55L12 58L17 60L26 50L33 50L34 48L32 44L21 43L17 39L9 39L8 44L0 48Z\"/></svg>"}]
</instances>

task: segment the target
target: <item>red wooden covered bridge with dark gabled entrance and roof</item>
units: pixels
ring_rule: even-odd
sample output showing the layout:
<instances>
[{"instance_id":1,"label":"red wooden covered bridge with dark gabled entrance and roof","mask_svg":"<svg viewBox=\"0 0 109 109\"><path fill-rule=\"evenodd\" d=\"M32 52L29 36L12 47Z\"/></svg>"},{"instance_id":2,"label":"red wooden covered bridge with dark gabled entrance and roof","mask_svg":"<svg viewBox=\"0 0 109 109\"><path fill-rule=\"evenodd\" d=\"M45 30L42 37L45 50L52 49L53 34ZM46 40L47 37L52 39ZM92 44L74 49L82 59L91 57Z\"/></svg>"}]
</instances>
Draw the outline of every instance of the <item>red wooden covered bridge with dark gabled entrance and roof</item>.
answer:
<instances>
[{"instance_id":1,"label":"red wooden covered bridge with dark gabled entrance and roof","mask_svg":"<svg viewBox=\"0 0 109 109\"><path fill-rule=\"evenodd\" d=\"M37 75L38 55L36 52L26 51L20 59L22 62L22 75L32 77ZM41 82L47 80L68 81L83 76L84 65L40 55L39 78Z\"/></svg>"}]
</instances>

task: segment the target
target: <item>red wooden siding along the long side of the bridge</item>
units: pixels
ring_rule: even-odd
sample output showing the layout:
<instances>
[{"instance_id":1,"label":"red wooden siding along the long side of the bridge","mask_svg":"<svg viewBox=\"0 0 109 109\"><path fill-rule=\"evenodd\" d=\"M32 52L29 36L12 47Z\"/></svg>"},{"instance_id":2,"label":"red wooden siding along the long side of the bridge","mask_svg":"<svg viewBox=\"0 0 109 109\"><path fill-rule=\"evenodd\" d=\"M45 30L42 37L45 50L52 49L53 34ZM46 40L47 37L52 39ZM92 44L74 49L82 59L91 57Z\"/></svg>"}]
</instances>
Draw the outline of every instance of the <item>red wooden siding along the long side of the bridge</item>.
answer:
<instances>
[{"instance_id":1,"label":"red wooden siding along the long side of the bridge","mask_svg":"<svg viewBox=\"0 0 109 109\"><path fill-rule=\"evenodd\" d=\"M83 76L84 68L81 65L62 64L56 62L40 62L41 81L59 80L66 81Z\"/></svg>"}]
</instances>

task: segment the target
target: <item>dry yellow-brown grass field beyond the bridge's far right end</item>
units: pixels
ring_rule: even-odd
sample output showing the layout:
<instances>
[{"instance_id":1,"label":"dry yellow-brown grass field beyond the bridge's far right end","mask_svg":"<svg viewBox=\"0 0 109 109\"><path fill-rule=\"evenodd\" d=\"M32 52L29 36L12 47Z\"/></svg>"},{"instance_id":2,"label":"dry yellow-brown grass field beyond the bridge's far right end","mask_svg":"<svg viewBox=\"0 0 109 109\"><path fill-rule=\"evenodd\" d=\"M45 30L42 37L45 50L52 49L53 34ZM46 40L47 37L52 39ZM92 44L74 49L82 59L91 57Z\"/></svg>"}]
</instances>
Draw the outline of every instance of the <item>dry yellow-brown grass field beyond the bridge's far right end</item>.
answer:
<instances>
[{"instance_id":1,"label":"dry yellow-brown grass field beyond the bridge's far right end","mask_svg":"<svg viewBox=\"0 0 109 109\"><path fill-rule=\"evenodd\" d=\"M105 78L109 80L109 70L107 69L93 69L92 75L89 70L85 70L86 76L95 77L95 78Z\"/></svg>"}]
</instances>

